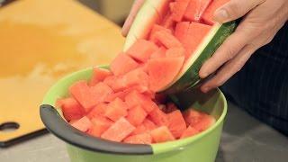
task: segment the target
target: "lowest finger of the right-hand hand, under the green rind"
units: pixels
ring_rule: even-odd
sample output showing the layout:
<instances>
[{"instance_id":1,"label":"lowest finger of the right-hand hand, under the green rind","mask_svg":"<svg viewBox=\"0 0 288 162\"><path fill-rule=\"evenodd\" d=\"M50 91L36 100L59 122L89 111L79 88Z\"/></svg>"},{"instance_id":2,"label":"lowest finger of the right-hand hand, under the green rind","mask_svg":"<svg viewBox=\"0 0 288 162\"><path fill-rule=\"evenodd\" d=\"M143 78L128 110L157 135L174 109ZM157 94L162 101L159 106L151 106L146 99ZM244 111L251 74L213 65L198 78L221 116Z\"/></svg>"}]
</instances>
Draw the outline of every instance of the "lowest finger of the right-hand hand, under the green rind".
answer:
<instances>
[{"instance_id":1,"label":"lowest finger of the right-hand hand, under the green rind","mask_svg":"<svg viewBox=\"0 0 288 162\"><path fill-rule=\"evenodd\" d=\"M247 62L247 59L256 51L254 45L247 45L238 52L238 55L220 68L220 71L204 83L201 87L202 92L206 93L212 88L223 85L231 76L237 73Z\"/></svg>"}]
</instances>

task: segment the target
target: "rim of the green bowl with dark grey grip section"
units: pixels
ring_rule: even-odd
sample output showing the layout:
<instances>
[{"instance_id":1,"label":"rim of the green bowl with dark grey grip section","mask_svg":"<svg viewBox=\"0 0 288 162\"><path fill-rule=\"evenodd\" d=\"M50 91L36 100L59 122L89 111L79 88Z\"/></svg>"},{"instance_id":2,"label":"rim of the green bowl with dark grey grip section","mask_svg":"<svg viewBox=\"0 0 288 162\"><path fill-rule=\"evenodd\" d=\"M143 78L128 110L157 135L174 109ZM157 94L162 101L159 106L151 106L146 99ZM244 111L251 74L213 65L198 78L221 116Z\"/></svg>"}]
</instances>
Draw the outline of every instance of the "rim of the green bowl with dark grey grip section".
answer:
<instances>
[{"instance_id":1,"label":"rim of the green bowl with dark grey grip section","mask_svg":"<svg viewBox=\"0 0 288 162\"><path fill-rule=\"evenodd\" d=\"M221 122L224 121L224 118L227 114L227 101L220 91L217 88L216 93L220 94L220 100L223 102L222 112L219 119L207 130L202 131L201 133L189 137L186 139L177 139L174 141L168 141L164 143L157 143L151 145L143 144L127 144L121 142L114 142L110 140L100 139L92 137L85 132L76 130L67 121L64 120L62 114L58 112L58 109L54 107L56 96L55 91L58 87L70 82L70 85L74 83L77 76L91 76L93 67L88 67L74 73L71 73L67 76L62 77L54 85L49 88L47 94L45 94L42 104L40 105L40 119L44 123L47 130L52 134L57 136L59 139L64 140L70 145L76 146L78 148L84 148L90 151L96 151L107 154L120 154L120 155L156 155L164 152L169 152L175 149L183 148L185 145L193 143L198 139L202 139L204 136L207 136L211 131L215 130ZM71 78L75 77L75 81L71 81ZM87 78L82 78L87 79ZM73 79L72 79L73 80ZM80 79L81 80L81 79ZM53 96L53 97L51 97Z\"/></svg>"}]
</instances>

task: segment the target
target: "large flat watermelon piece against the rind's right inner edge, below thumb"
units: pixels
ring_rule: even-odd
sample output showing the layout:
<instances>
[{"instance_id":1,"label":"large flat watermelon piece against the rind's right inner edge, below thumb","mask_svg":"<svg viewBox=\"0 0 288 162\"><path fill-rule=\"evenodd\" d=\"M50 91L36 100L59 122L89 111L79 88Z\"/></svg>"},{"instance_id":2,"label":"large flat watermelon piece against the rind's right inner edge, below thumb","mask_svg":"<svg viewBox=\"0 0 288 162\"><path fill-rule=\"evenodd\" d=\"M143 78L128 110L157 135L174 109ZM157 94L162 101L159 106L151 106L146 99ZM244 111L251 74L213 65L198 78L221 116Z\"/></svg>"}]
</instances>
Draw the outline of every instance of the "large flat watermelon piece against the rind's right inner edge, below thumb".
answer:
<instances>
[{"instance_id":1,"label":"large flat watermelon piece against the rind's right inner edge, below thumb","mask_svg":"<svg viewBox=\"0 0 288 162\"><path fill-rule=\"evenodd\" d=\"M203 38L211 30L211 26L202 24L202 23L190 23L189 29L184 40L181 42L184 45L184 48L187 50L187 56L185 58L190 58L191 54L199 44L202 42Z\"/></svg>"}]
</instances>

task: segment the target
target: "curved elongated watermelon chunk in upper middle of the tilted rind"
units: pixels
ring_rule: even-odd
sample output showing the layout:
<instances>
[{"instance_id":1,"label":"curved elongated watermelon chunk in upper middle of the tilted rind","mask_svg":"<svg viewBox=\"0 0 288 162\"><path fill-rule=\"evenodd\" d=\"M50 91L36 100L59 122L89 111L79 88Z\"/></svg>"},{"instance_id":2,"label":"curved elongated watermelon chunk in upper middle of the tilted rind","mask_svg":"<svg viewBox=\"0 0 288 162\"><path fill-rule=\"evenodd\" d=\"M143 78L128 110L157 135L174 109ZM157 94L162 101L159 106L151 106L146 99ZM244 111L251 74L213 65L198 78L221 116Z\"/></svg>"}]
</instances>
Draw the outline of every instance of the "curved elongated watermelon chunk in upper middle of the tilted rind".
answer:
<instances>
[{"instance_id":1,"label":"curved elongated watermelon chunk in upper middle of the tilted rind","mask_svg":"<svg viewBox=\"0 0 288 162\"><path fill-rule=\"evenodd\" d=\"M175 38L175 36L166 31L157 31L154 34L154 40L156 43L164 45L166 49L175 48L175 47L183 47L181 42Z\"/></svg>"}]
</instances>

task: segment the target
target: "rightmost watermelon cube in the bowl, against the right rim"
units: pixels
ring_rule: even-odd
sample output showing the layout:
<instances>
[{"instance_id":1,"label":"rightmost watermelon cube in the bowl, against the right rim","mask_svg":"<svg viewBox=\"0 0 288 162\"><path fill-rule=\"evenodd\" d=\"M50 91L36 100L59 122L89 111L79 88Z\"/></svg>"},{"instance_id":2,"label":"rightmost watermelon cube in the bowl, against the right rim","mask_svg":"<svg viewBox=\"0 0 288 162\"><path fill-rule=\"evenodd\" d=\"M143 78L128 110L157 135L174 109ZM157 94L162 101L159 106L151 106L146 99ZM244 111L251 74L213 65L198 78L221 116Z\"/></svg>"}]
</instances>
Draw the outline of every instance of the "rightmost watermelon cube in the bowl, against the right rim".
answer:
<instances>
[{"instance_id":1,"label":"rightmost watermelon cube in the bowl, against the right rim","mask_svg":"<svg viewBox=\"0 0 288 162\"><path fill-rule=\"evenodd\" d=\"M200 121L191 125L195 130L203 131L209 129L214 123L215 119L211 115L203 113Z\"/></svg>"}]
</instances>

